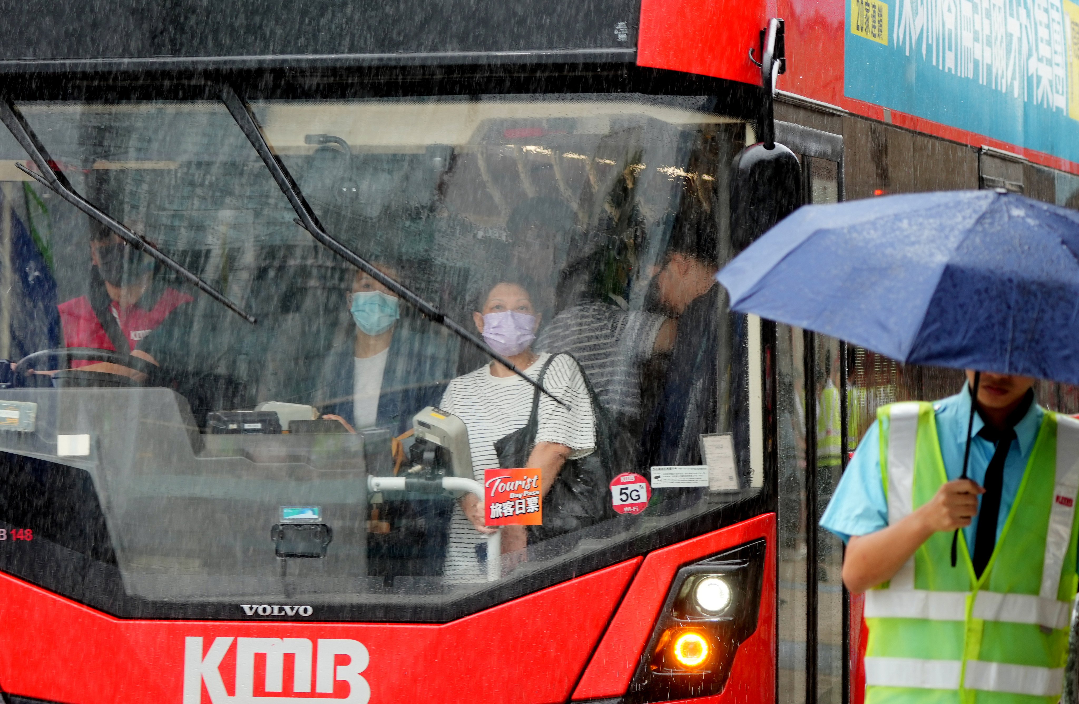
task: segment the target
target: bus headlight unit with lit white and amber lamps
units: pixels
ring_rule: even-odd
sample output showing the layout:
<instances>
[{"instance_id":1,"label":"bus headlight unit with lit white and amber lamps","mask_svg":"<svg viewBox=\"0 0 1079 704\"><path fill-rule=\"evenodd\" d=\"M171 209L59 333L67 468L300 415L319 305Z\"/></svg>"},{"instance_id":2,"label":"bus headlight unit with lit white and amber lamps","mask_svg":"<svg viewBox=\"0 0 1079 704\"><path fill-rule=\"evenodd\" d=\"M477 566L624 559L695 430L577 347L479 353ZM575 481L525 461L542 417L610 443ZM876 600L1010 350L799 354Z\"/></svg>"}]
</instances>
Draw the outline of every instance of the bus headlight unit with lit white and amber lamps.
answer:
<instances>
[{"instance_id":1,"label":"bus headlight unit with lit white and amber lamps","mask_svg":"<svg viewBox=\"0 0 1079 704\"><path fill-rule=\"evenodd\" d=\"M756 540L678 571L626 704L723 691L738 647L756 631L764 557Z\"/></svg>"}]
</instances>

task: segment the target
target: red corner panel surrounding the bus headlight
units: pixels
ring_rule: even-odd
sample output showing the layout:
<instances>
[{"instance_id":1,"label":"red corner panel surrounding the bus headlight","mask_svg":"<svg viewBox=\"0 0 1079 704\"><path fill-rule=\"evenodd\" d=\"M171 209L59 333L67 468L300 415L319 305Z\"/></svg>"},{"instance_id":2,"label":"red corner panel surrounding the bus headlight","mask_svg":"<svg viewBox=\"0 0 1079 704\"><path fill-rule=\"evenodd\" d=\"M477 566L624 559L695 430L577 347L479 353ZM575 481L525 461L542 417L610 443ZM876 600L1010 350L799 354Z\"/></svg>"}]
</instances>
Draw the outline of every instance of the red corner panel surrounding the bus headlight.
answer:
<instances>
[{"instance_id":1,"label":"red corner panel surrounding the bus headlight","mask_svg":"<svg viewBox=\"0 0 1079 704\"><path fill-rule=\"evenodd\" d=\"M588 663L574 700L620 696L629 687L641 653L652 635L675 572L683 565L764 538L764 584L756 631L735 655L723 692L708 701L736 696L738 701L775 699L776 681L776 514L766 513L650 553L630 584L596 654ZM698 701L706 701L705 699Z\"/></svg>"}]
</instances>

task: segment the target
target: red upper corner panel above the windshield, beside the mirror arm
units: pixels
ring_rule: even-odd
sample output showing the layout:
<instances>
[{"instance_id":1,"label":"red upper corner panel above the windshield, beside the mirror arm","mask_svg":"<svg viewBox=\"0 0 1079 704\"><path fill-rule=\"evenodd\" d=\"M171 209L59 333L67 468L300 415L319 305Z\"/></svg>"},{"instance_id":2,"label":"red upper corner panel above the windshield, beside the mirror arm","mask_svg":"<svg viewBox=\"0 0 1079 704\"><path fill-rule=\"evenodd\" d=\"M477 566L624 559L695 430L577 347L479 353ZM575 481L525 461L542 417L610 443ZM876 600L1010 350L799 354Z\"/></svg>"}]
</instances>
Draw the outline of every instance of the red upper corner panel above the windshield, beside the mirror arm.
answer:
<instances>
[{"instance_id":1,"label":"red upper corner panel above the windshield, beside the mirror arm","mask_svg":"<svg viewBox=\"0 0 1079 704\"><path fill-rule=\"evenodd\" d=\"M637 64L760 85L766 24L764 0L641 0Z\"/></svg>"}]
</instances>

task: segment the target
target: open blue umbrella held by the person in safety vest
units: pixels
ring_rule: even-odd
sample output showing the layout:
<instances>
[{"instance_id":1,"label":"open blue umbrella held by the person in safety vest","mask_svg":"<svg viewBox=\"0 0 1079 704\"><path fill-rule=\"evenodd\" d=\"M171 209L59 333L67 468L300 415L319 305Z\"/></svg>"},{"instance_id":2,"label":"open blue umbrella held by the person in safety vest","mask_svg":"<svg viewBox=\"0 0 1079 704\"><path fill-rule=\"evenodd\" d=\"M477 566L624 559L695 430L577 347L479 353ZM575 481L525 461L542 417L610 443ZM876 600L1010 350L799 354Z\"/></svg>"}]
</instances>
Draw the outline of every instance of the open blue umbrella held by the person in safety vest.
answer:
<instances>
[{"instance_id":1,"label":"open blue umbrella held by the person in safety vest","mask_svg":"<svg viewBox=\"0 0 1079 704\"><path fill-rule=\"evenodd\" d=\"M730 307L906 363L1079 384L1079 212L998 191L805 206L716 275Z\"/></svg>"}]
</instances>

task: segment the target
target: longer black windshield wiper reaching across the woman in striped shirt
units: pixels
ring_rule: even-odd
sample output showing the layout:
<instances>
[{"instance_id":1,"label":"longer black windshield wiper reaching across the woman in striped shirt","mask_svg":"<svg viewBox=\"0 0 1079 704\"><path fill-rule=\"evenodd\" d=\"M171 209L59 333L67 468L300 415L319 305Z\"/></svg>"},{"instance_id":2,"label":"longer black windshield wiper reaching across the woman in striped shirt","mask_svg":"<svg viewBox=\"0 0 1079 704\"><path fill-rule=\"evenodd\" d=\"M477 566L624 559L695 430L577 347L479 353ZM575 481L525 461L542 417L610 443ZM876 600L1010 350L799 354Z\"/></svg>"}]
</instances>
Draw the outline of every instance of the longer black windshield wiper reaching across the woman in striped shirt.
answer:
<instances>
[{"instance_id":1,"label":"longer black windshield wiper reaching across the woman in striped shirt","mask_svg":"<svg viewBox=\"0 0 1079 704\"><path fill-rule=\"evenodd\" d=\"M258 152L259 156L262 158L262 163L267 165L268 169L270 169L270 175L273 176L273 180L285 194L285 197L288 198L288 203L292 206L292 209L296 210L296 215L299 216L300 225L306 230L319 245L360 270L379 284L382 284L399 298L405 299L412 304L424 316L434 322L446 327L450 330L450 332L473 345L491 359L497 361L500 364L552 398L556 402L566 409L570 408L568 403L548 391L542 384L528 376L511 361L488 347L482 340L468 330L462 328L452 319L447 318L446 314L435 308L435 306L421 299L400 282L380 272L366 259L327 234L326 230L323 229L322 223L318 221L318 216L315 215L315 211L308 204L306 198L303 197L303 193L300 191L300 187L297 184L296 179L292 178L292 175L288 172L285 164L277 157L277 154L274 153L273 149L270 148L270 143L267 142L265 135L262 134L262 127L259 125L258 119L256 119L255 112L251 110L250 106L247 105L247 101L241 98L230 85L224 85L221 88L221 101L224 102L229 112L232 113L232 119L236 121L237 125L240 125L240 128L244 132L244 136L247 137L247 141L251 142L251 147L254 147L255 151Z\"/></svg>"}]
</instances>

